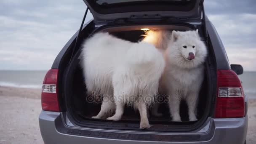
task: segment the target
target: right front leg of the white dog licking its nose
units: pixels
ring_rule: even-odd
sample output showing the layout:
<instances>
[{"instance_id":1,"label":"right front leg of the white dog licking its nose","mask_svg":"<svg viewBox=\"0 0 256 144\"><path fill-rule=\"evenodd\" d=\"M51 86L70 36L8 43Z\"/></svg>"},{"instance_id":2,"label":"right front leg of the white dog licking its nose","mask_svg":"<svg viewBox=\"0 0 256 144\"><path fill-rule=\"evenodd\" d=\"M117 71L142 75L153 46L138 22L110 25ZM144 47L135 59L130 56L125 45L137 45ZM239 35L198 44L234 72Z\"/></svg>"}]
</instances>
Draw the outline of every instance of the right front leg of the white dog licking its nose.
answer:
<instances>
[{"instance_id":1,"label":"right front leg of the white dog licking its nose","mask_svg":"<svg viewBox=\"0 0 256 144\"><path fill-rule=\"evenodd\" d=\"M196 121L196 112L197 112L197 92L189 93L186 98L187 105L188 105L188 112L189 112L189 121Z\"/></svg>"}]
</instances>

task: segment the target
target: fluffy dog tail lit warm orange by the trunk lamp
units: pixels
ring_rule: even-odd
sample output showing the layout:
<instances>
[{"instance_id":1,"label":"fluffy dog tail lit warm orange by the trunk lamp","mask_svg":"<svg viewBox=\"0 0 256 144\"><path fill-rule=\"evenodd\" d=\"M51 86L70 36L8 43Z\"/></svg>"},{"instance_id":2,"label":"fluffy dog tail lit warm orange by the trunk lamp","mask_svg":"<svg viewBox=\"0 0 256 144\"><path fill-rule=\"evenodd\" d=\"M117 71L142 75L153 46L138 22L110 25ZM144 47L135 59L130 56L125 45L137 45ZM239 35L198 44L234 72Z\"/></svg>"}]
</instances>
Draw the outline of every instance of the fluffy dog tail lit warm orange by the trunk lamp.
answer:
<instances>
[{"instance_id":1,"label":"fluffy dog tail lit warm orange by the trunk lamp","mask_svg":"<svg viewBox=\"0 0 256 144\"><path fill-rule=\"evenodd\" d=\"M165 50L171 40L171 32L167 30L149 30L142 41L155 45L156 48Z\"/></svg>"}]
</instances>

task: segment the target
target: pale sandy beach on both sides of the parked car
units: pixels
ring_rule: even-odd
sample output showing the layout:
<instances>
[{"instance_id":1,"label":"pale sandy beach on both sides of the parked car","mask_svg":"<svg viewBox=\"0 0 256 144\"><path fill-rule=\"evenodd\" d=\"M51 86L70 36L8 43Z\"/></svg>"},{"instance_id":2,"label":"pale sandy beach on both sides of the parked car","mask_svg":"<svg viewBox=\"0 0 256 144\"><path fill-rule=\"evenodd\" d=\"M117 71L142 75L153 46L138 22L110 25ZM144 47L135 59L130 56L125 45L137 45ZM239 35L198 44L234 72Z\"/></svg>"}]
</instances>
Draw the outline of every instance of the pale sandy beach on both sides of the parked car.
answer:
<instances>
[{"instance_id":1,"label":"pale sandy beach on both sides of the parked car","mask_svg":"<svg viewBox=\"0 0 256 144\"><path fill-rule=\"evenodd\" d=\"M0 144L43 144L40 89L0 86ZM256 144L256 99L249 100L247 144Z\"/></svg>"}]
</instances>

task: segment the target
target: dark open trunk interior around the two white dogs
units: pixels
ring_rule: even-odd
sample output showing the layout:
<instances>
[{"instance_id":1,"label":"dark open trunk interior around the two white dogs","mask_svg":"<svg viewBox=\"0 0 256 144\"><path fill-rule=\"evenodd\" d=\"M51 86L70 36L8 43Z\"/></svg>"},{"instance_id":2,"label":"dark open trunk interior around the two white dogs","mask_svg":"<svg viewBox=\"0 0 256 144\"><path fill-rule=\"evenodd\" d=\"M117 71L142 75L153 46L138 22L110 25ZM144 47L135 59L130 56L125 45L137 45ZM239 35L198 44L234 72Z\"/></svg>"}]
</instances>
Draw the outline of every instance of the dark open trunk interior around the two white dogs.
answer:
<instances>
[{"instance_id":1,"label":"dark open trunk interior around the two white dogs","mask_svg":"<svg viewBox=\"0 0 256 144\"><path fill-rule=\"evenodd\" d=\"M109 32L116 37L132 42L141 40L145 32L140 30L141 27L150 29L168 29L168 30L189 30L190 27L184 26L130 26L130 27L115 27L105 28L99 31ZM199 27L197 27L199 29ZM97 30L98 31L98 30ZM202 31L201 31L202 32ZM200 34L202 36L202 34ZM197 119L198 121L189 122L187 104L184 100L181 101L180 115L182 122L172 122L168 105L161 103L158 112L163 113L162 117L154 117L150 115L149 123L151 128L143 131L191 131L198 125L202 125L207 119L209 112L210 93L210 79L209 68L205 62L205 78L200 90L199 102L197 106ZM65 98L69 118L72 122L83 127L91 128L109 128L109 129L128 129L140 130L140 116L139 112L131 107L125 106L125 112L120 121L113 122L103 119L92 119L99 113L101 103L91 102L92 96L87 95L86 85L83 77L83 70L80 67L80 50L74 56L74 59L69 64L65 75ZM165 95L165 93L161 93ZM140 130L141 131L141 130Z\"/></svg>"}]
</instances>

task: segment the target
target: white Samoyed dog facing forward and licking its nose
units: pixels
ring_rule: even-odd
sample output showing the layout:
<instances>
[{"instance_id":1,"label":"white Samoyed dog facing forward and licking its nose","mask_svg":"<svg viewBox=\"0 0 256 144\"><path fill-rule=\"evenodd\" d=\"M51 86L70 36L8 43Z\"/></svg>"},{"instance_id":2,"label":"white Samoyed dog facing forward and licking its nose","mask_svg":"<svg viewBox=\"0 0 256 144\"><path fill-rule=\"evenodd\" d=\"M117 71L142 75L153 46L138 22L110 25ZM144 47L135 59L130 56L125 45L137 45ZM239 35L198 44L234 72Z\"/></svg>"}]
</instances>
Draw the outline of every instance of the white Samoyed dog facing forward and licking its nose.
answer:
<instances>
[{"instance_id":1,"label":"white Samoyed dog facing forward and licking its nose","mask_svg":"<svg viewBox=\"0 0 256 144\"><path fill-rule=\"evenodd\" d=\"M157 43L147 37L157 37ZM161 78L160 91L169 96L169 108L173 121L181 121L179 106L181 99L188 105L189 121L197 120L198 95L204 78L204 61L207 49L198 30L152 31L143 40L161 48L166 67ZM160 40L160 41L159 41Z\"/></svg>"}]
</instances>

